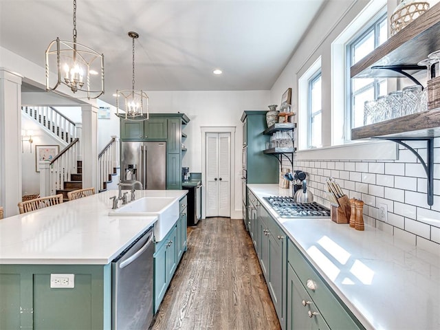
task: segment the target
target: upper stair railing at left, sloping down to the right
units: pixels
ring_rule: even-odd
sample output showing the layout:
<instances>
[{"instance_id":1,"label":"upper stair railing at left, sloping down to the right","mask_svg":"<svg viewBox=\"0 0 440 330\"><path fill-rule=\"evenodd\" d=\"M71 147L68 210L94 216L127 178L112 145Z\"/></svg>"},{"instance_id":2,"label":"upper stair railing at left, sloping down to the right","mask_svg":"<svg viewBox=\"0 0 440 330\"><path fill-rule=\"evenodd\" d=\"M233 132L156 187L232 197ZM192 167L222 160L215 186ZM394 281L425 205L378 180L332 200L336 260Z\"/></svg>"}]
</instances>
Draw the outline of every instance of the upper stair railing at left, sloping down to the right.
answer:
<instances>
[{"instance_id":1,"label":"upper stair railing at left, sloping down to the right","mask_svg":"<svg viewBox=\"0 0 440 330\"><path fill-rule=\"evenodd\" d=\"M21 112L67 144L78 137L75 123L53 107L21 107Z\"/></svg>"}]
</instances>

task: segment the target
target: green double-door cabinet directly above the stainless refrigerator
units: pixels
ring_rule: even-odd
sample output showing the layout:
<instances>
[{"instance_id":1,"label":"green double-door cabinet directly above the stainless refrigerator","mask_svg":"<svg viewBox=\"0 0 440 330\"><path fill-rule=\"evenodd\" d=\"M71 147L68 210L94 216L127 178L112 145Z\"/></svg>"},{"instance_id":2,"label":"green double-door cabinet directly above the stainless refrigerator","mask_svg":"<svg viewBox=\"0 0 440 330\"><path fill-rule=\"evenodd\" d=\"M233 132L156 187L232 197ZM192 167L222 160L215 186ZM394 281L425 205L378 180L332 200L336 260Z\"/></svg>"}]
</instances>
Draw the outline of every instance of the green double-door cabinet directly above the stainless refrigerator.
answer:
<instances>
[{"instance_id":1,"label":"green double-door cabinet directly above the stainless refrigerator","mask_svg":"<svg viewBox=\"0 0 440 330\"><path fill-rule=\"evenodd\" d=\"M166 118L149 118L142 122L120 121L121 140L166 140Z\"/></svg>"}]
</instances>

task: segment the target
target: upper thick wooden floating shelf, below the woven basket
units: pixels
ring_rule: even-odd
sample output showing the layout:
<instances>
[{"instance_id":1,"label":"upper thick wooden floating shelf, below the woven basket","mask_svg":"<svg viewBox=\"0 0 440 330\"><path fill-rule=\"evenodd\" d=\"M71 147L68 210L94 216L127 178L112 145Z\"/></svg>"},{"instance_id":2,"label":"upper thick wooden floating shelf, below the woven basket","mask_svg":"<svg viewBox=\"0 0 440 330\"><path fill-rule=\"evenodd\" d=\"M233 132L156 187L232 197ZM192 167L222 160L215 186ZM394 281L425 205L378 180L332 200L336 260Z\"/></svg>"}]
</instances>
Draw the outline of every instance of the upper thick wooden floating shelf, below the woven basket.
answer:
<instances>
[{"instance_id":1,"label":"upper thick wooden floating shelf, below the woven basket","mask_svg":"<svg viewBox=\"0 0 440 330\"><path fill-rule=\"evenodd\" d=\"M351 78L402 77L396 72L371 69L371 67L415 65L435 50L440 50L440 3L433 5L427 12L353 65Z\"/></svg>"}]
</instances>

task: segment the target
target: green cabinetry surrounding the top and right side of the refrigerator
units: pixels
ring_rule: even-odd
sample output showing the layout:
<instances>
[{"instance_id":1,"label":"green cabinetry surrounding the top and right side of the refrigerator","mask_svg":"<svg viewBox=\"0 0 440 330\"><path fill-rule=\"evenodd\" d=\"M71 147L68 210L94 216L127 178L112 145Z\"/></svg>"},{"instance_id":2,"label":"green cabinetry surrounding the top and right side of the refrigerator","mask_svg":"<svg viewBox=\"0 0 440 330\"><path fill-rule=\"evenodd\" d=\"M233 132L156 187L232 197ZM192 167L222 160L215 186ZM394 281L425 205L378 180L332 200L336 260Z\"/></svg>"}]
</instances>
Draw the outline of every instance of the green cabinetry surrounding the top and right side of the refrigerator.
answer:
<instances>
[{"instance_id":1,"label":"green cabinetry surrounding the top and right side of the refrigerator","mask_svg":"<svg viewBox=\"0 0 440 330\"><path fill-rule=\"evenodd\" d=\"M190 119L184 113L150 113L142 122L120 119L122 141L166 142L166 188L181 189L181 159L186 153L182 146L186 138L183 129Z\"/></svg>"}]
</instances>

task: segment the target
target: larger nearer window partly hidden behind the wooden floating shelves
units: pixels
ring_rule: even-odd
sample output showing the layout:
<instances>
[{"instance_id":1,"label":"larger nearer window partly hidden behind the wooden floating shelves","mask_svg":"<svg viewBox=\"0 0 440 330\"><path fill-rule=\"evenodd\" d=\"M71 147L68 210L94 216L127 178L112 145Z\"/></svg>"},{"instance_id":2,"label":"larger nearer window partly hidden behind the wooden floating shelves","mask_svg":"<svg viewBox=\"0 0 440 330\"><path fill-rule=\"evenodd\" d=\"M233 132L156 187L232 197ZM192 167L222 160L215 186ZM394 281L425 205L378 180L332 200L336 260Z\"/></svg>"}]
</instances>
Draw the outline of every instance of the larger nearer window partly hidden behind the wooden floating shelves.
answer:
<instances>
[{"instance_id":1,"label":"larger nearer window partly hidden behind the wooden floating shelves","mask_svg":"<svg viewBox=\"0 0 440 330\"><path fill-rule=\"evenodd\" d=\"M350 79L350 67L387 39L386 14L375 17L366 29L362 30L351 43L347 45L347 68L349 81L349 107L347 107L347 127L352 129L364 125L364 102L375 100L387 93L385 78L354 78ZM348 132L349 133L349 132ZM350 136L350 134L348 135Z\"/></svg>"}]
</instances>

